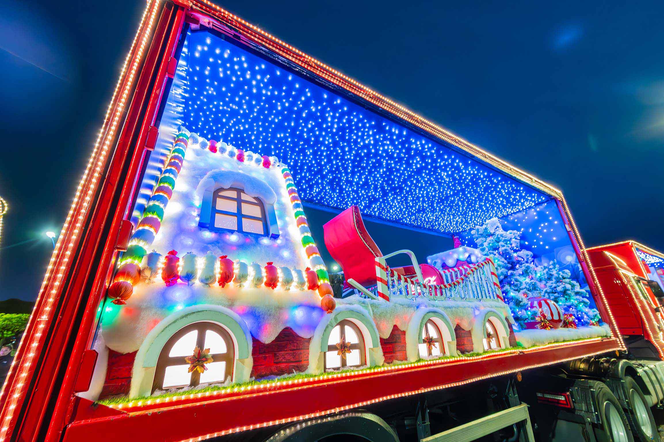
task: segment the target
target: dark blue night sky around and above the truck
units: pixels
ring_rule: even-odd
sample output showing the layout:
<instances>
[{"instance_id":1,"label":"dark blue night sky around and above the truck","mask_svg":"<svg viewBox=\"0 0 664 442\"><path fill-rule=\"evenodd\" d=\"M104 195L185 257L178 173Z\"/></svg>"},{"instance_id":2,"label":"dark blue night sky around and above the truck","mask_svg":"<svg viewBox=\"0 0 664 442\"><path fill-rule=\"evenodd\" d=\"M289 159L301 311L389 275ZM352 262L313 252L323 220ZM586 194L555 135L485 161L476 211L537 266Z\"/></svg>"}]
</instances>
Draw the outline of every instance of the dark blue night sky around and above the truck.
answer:
<instances>
[{"instance_id":1,"label":"dark blue night sky around and above the truck","mask_svg":"<svg viewBox=\"0 0 664 442\"><path fill-rule=\"evenodd\" d=\"M661 2L286 3L221 5L559 187L586 245L664 250ZM0 0L0 299L37 296L143 6Z\"/></svg>"}]
</instances>

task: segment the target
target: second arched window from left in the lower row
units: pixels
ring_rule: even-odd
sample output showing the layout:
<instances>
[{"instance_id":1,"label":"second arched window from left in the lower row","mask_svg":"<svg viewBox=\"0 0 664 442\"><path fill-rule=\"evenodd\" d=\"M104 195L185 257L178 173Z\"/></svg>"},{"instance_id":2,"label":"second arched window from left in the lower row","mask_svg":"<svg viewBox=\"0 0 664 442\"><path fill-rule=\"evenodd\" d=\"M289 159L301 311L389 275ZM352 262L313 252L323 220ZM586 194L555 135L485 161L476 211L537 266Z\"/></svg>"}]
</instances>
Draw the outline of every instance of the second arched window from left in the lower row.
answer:
<instances>
[{"instance_id":1,"label":"second arched window from left in the lower row","mask_svg":"<svg viewBox=\"0 0 664 442\"><path fill-rule=\"evenodd\" d=\"M325 369L365 364L365 340L360 328L344 319L330 332L325 352Z\"/></svg>"}]
</instances>

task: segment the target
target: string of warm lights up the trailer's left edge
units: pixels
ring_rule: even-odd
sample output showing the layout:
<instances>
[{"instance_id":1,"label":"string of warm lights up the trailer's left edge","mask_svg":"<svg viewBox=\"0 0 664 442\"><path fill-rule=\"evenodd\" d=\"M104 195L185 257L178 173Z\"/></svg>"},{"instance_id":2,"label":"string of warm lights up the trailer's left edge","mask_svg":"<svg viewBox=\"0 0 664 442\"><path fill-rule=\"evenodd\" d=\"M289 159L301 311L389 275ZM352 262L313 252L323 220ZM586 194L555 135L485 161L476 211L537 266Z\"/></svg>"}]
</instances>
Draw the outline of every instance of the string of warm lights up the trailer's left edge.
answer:
<instances>
[{"instance_id":1,"label":"string of warm lights up the trailer's left edge","mask_svg":"<svg viewBox=\"0 0 664 442\"><path fill-rule=\"evenodd\" d=\"M37 296L35 306L40 304L43 296L46 296L46 288L48 286L52 287L50 294L48 295L50 297L46 299L41 312L33 310L33 314L31 314L27 328L31 328L31 326L33 326L38 320L47 319L48 311L52 308L54 302L56 302L56 300L59 298L59 296L56 295L60 290L60 284L62 283L64 275L66 274L66 271L70 265L70 254L72 253L72 249L74 249L74 245L77 243L76 240L78 239L78 233L82 228L82 221L86 217L88 206L92 200L94 192L97 189L98 181L102 175L106 159L108 158L111 142L114 140L116 129L120 125L120 120L124 115L123 110L125 104L127 104L127 99L129 98L129 93L131 92L133 81L137 76L139 62L143 57L145 47L150 40L152 27L154 25L155 18L157 17L157 11L159 9L159 3L159 0L152 0L147 3L145 10L143 11L143 16L141 17L141 22L138 27L139 30L134 36L129 52L125 57L122 70L120 71L120 78L118 78L118 83L116 84L116 88L113 92L110 104L106 110L106 116L104 116L102 129L100 130L98 138L95 142L94 149L90 155L90 160L88 160L88 165L86 166L83 176L76 189L76 195L74 196L74 201L72 201L69 213L67 214L67 217L64 221L62 231L60 231L60 235L48 263L46 275L44 276L42 286L39 290L39 295ZM143 25L146 20L147 26L145 29L143 29ZM141 37L141 29L143 30L142 39L140 42L138 42L139 37ZM137 51L134 54L134 49L136 48ZM127 66L129 66L128 71ZM128 75L125 76L127 72ZM120 92L121 89L122 92ZM119 99L118 92L120 92ZM83 194L83 192L85 193ZM79 203L81 204L79 205ZM74 229L68 235L68 229L71 227L72 222L75 223ZM62 244L62 242L65 241L65 237L68 243L66 245L66 250L63 253L60 249L65 247ZM56 261L57 269L55 269ZM52 281L51 277L54 274L55 280ZM44 314L44 317L40 317L38 319L37 316L41 316L42 314ZM18 378L14 380L12 391L13 394L11 398L7 398L5 400L5 394L7 394L7 391L9 390L7 383L5 383L2 391L0 391L0 403L3 403L4 405L2 411L4 417L0 426L0 442L7 440L7 433L11 429L11 422L13 421L14 411L17 407L19 399L23 397L25 378L27 378L29 371L32 370L31 366L33 358L37 355L37 351L39 350L39 346L41 344L39 341L41 341L43 329L44 324L39 324L35 330L35 333L31 334L30 336L26 334L23 336L23 338L21 338L21 343L19 344L19 349L17 352L21 352L21 350L23 350L23 346L28 345L27 340L31 341L31 344L29 344L31 346L31 350L29 353L23 354L23 358L21 358L21 367L18 369L20 372L18 374ZM7 375L7 378L11 378L14 370L17 370L16 364L17 359L13 360L11 367L9 368L9 374Z\"/></svg>"}]
</instances>

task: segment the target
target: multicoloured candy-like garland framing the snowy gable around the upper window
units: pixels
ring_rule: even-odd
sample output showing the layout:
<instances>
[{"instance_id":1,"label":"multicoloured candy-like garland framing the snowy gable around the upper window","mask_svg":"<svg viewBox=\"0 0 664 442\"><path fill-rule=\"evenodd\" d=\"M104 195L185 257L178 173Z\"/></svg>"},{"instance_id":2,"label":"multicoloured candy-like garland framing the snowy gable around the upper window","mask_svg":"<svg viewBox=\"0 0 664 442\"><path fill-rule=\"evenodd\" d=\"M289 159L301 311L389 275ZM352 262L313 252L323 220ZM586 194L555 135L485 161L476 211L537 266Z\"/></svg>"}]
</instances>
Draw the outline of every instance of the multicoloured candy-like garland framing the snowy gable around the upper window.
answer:
<instances>
[{"instance_id":1,"label":"multicoloured candy-like garland framing the snowy gable around the upper window","mask_svg":"<svg viewBox=\"0 0 664 442\"><path fill-rule=\"evenodd\" d=\"M177 251L170 251L164 258L161 258L161 255L156 251L147 253L147 247L152 245L161 227L166 206L173 196L175 180L182 169L185 153L190 144L191 146L199 145L214 154L226 154L230 158L235 158L238 162L256 167L262 166L269 169L280 164L278 158L274 156L260 156L251 151L245 152L242 149L236 149L225 142L206 140L199 137L198 134L189 132L183 126L179 126L173 149L166 163L167 166L161 173L157 187L147 202L136 231L131 235L127 251L118 261L118 271L108 288L108 296L113 299L114 304L126 304L126 300L133 294L133 286L139 282L141 276L146 278L146 282L151 282L153 277L161 271L162 279L167 286L175 284L178 279L191 285L195 282L197 276L199 276L198 280L206 286L209 286L210 282L214 282L214 280L217 280L222 287L231 281L242 286L248 279L252 281L254 286L259 286L264 282L265 286L273 290L278 285L281 285L285 290L289 290L293 282L303 290L306 284L306 288L309 288L309 290L318 291L321 296L321 308L325 312L331 313L335 309L336 302L332 297L333 290L329 284L329 274L311 236L301 199L297 194L288 167L282 169L282 175L293 207L295 223L301 235L301 245L309 259L311 269L313 269L310 270L307 267L305 270L306 279L302 277L302 272L298 269L293 269L293 271L288 267L277 269L272 262L261 268L256 263L247 265L242 261L233 262L226 255L222 255L217 260L216 257L208 256L199 259L193 253L187 253L180 259L177 257ZM140 267L141 264L142 267ZM214 275L212 275L212 271L214 271ZM293 277L293 275L295 276Z\"/></svg>"}]
</instances>

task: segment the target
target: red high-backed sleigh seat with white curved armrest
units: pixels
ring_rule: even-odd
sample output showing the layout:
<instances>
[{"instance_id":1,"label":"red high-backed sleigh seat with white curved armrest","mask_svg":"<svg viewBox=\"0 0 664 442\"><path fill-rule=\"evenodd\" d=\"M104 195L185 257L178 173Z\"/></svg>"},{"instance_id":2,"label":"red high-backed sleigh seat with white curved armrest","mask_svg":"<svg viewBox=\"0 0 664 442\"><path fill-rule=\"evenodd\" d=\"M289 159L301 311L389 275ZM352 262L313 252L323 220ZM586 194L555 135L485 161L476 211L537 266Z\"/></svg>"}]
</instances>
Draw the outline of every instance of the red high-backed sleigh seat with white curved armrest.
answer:
<instances>
[{"instance_id":1,"label":"red high-backed sleigh seat with white curved armrest","mask_svg":"<svg viewBox=\"0 0 664 442\"><path fill-rule=\"evenodd\" d=\"M360 209L351 205L345 211L323 225L325 247L343 270L347 286L361 291L376 284L376 257L390 258L400 253L410 257L412 265L392 267L396 273L416 278L427 284L442 284L442 275L436 267L418 265L415 254L410 250L399 250L382 255L376 243L365 228Z\"/></svg>"}]
</instances>

